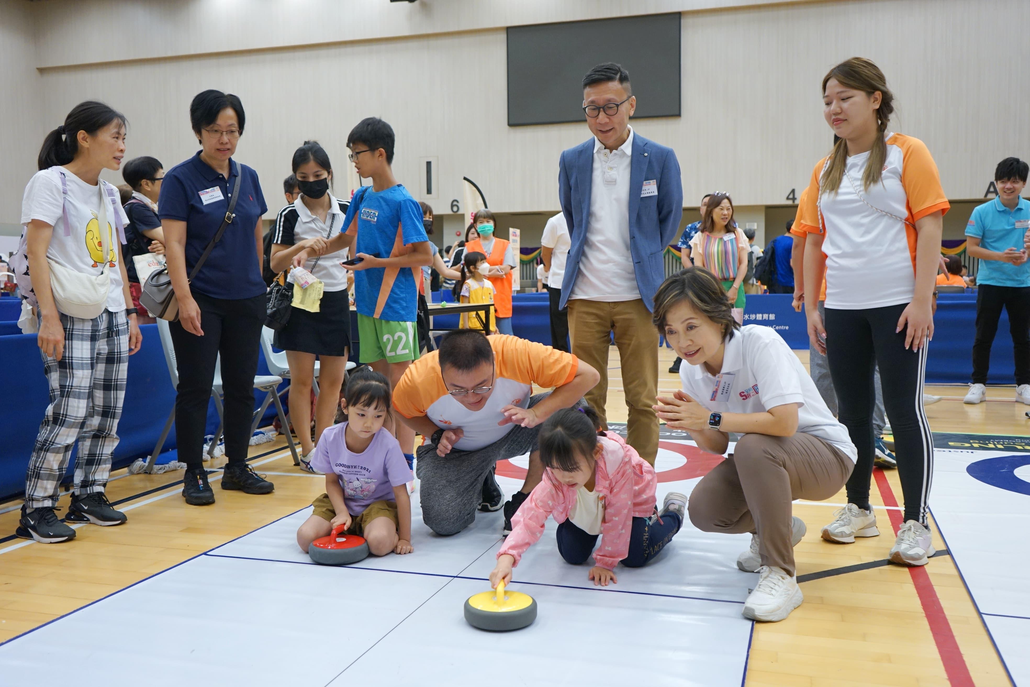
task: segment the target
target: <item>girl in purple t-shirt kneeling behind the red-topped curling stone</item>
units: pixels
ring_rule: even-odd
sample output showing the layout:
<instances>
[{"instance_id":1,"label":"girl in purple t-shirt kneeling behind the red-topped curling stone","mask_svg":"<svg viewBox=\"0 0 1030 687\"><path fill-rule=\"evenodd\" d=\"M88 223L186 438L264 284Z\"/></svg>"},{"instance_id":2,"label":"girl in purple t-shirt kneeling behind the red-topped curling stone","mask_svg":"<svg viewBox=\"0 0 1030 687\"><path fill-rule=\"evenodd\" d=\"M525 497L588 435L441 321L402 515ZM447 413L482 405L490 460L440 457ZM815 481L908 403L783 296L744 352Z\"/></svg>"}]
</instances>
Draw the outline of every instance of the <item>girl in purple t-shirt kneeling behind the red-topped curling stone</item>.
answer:
<instances>
[{"instance_id":1,"label":"girl in purple t-shirt kneeling behind the red-topped curling stone","mask_svg":"<svg viewBox=\"0 0 1030 687\"><path fill-rule=\"evenodd\" d=\"M338 525L362 536L374 556L411 553L411 469L401 445L383 427L389 414L389 382L381 374L352 375L341 404L347 421L325 430L311 457L311 468L325 474L325 493L297 530L308 546Z\"/></svg>"}]
</instances>

